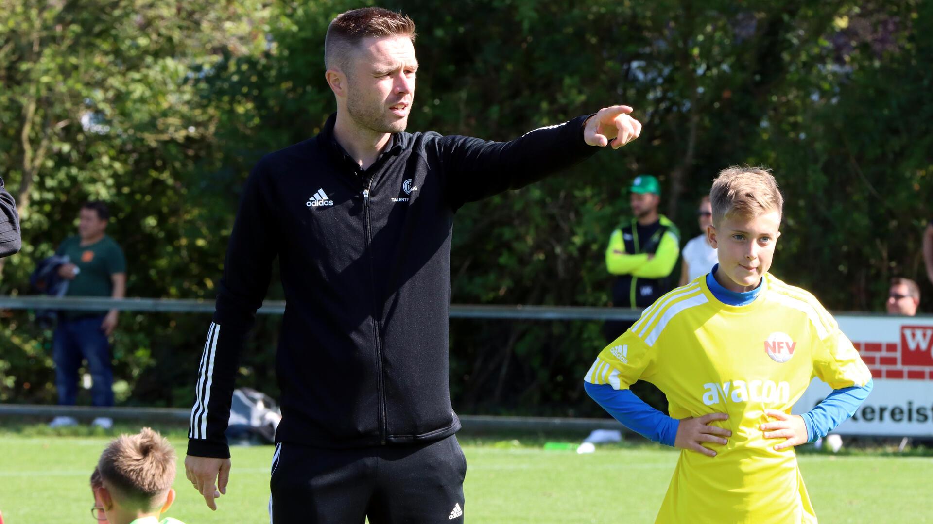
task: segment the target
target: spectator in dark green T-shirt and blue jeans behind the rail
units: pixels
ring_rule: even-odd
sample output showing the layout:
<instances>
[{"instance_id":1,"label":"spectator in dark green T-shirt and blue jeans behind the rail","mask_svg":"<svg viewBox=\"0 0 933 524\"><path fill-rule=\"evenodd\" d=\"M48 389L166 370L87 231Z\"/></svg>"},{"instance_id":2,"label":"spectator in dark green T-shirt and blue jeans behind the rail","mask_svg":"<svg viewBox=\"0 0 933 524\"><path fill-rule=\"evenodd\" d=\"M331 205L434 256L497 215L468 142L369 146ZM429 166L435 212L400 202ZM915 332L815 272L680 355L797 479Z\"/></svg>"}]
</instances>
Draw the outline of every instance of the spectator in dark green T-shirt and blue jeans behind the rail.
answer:
<instances>
[{"instance_id":1,"label":"spectator in dark green T-shirt and blue jeans behind the rail","mask_svg":"<svg viewBox=\"0 0 933 524\"><path fill-rule=\"evenodd\" d=\"M111 296L126 293L126 258L117 242L104 234L110 212L104 202L91 201L80 211L75 237L59 246L56 255L67 256L59 275L67 279L65 296ZM109 337L117 327L118 311L65 311L55 329L52 359L55 363L55 387L59 405L77 403L77 370L82 360L91 372L91 403L109 407L114 404L113 372L110 365ZM52 427L74 425L71 417L56 417ZM99 417L94 425L109 428L113 421Z\"/></svg>"}]
</instances>

